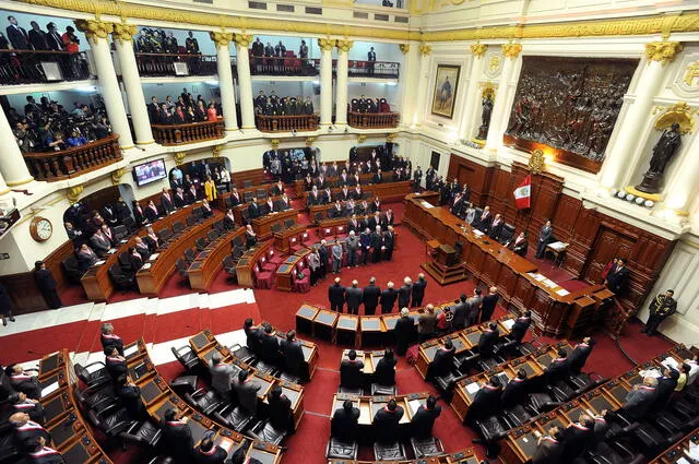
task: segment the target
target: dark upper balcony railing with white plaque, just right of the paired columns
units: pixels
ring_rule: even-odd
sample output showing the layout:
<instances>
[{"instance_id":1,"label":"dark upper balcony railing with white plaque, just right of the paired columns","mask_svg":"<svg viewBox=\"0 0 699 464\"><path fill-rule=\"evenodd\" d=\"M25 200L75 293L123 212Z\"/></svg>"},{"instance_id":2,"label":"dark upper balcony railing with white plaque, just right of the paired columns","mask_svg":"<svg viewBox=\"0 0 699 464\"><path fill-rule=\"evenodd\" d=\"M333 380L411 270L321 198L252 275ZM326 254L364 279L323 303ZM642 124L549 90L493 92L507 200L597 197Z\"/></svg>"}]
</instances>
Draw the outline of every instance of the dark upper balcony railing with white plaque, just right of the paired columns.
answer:
<instances>
[{"instance_id":1,"label":"dark upper balcony railing with white plaque, just right of the paired columns","mask_svg":"<svg viewBox=\"0 0 699 464\"><path fill-rule=\"evenodd\" d=\"M217 73L215 55L135 53L135 62L142 76Z\"/></svg>"}]
</instances>

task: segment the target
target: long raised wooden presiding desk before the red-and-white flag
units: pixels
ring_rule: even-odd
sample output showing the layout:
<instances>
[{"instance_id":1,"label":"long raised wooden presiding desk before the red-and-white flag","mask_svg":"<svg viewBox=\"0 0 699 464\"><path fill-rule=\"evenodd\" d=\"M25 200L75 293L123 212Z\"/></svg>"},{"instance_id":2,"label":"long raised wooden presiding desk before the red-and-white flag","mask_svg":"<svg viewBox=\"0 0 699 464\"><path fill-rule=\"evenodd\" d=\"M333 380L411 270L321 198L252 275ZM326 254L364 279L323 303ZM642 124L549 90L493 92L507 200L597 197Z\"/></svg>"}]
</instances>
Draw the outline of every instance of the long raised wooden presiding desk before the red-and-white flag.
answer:
<instances>
[{"instance_id":1,"label":"long raised wooden presiding desk before the red-and-white flag","mask_svg":"<svg viewBox=\"0 0 699 464\"><path fill-rule=\"evenodd\" d=\"M474 277L487 286L497 285L498 293L510 307L531 309L533 322L545 334L561 335L576 300L602 288L590 285L568 293L557 284L547 286L546 281L536 277L534 263L474 231L447 209L434 206L436 195L431 192L407 195L403 222L427 239L451 247L457 241L462 243L461 260Z\"/></svg>"}]
</instances>

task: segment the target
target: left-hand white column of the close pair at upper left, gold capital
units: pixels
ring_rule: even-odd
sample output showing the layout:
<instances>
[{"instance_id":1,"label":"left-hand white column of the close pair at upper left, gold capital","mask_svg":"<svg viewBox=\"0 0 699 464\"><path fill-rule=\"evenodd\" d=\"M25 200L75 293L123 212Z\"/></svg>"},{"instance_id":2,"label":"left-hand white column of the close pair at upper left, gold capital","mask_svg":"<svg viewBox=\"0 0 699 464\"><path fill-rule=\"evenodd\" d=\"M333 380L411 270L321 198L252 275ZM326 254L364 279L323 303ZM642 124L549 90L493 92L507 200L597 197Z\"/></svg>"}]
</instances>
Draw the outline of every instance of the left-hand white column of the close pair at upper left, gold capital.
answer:
<instances>
[{"instance_id":1,"label":"left-hand white column of the close pair at upper left, gold capital","mask_svg":"<svg viewBox=\"0 0 699 464\"><path fill-rule=\"evenodd\" d=\"M107 41L107 35L111 33L114 25L93 20L76 20L75 25L79 31L85 33L90 41L95 68L97 69L102 98L107 107L107 116L109 117L111 129L119 134L119 145L125 150L133 148L129 118L123 107L119 81L117 81L109 43Z\"/></svg>"}]
</instances>

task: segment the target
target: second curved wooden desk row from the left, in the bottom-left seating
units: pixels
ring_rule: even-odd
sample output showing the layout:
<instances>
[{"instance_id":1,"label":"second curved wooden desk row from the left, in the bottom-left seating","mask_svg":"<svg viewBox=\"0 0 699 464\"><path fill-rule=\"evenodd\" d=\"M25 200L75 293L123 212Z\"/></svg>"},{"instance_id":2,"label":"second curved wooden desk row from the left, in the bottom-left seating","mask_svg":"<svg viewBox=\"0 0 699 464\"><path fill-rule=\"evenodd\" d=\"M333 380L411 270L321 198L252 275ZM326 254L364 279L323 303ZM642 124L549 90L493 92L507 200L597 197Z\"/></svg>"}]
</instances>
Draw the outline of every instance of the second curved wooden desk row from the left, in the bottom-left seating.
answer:
<instances>
[{"instance_id":1,"label":"second curved wooden desk row from the left, in the bottom-left seating","mask_svg":"<svg viewBox=\"0 0 699 464\"><path fill-rule=\"evenodd\" d=\"M169 388L151 361L143 340L125 346L123 352L125 355L129 354L129 377L141 389L141 401L155 423L161 424L165 413L171 408L177 412L178 419L187 421L196 445L209 430L216 432L214 442L228 452L228 459L242 445L245 436L204 417ZM279 464L282 450L274 444L254 440L247 451L247 456L256 457L264 464Z\"/></svg>"}]
</instances>

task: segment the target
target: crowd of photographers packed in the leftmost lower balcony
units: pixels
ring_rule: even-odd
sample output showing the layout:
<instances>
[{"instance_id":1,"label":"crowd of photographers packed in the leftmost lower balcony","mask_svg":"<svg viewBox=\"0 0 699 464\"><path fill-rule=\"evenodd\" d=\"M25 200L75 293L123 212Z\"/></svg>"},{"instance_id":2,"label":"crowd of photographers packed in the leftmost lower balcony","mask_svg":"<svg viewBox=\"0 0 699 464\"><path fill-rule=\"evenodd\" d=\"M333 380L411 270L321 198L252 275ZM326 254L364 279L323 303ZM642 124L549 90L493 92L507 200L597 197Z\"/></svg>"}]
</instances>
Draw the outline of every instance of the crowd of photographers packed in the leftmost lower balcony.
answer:
<instances>
[{"instance_id":1,"label":"crowd of photographers packed in the leftmost lower balcony","mask_svg":"<svg viewBox=\"0 0 699 464\"><path fill-rule=\"evenodd\" d=\"M26 153L58 152L105 139L111 133L106 108L93 103L74 102L69 112L46 96L36 103L28 95L24 116L13 107L8 108L5 116L12 127L14 141Z\"/></svg>"}]
</instances>

